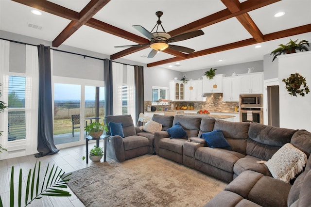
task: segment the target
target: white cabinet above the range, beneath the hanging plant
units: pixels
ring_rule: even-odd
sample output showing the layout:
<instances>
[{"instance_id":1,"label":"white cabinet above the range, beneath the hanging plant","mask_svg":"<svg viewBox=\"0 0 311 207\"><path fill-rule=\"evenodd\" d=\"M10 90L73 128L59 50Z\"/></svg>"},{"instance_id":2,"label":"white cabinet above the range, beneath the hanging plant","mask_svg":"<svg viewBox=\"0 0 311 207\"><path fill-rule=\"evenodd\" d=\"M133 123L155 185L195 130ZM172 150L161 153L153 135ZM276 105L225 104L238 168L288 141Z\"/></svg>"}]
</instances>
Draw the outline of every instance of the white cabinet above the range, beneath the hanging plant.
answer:
<instances>
[{"instance_id":1,"label":"white cabinet above the range, beneath the hanging plant","mask_svg":"<svg viewBox=\"0 0 311 207\"><path fill-rule=\"evenodd\" d=\"M223 93L223 77L225 74L217 74L212 80L203 77L203 94Z\"/></svg>"}]
</instances>

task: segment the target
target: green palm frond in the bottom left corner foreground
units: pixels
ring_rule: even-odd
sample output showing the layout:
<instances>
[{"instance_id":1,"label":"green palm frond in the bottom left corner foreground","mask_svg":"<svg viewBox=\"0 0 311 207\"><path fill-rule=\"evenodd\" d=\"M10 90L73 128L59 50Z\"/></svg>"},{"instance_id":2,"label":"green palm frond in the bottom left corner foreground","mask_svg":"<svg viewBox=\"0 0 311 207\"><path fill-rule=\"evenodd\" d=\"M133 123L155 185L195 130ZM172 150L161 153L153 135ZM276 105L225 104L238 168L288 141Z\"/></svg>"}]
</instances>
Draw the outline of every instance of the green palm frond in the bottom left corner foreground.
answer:
<instances>
[{"instance_id":1,"label":"green palm frond in the bottom left corner foreground","mask_svg":"<svg viewBox=\"0 0 311 207\"><path fill-rule=\"evenodd\" d=\"M35 199L40 199L42 196L71 196L68 191L64 191L62 189L67 188L67 181L70 179L68 178L69 175L65 175L65 172L55 167L53 164L52 169L49 169L48 164L42 185L40 186L40 167L41 162L39 161L38 166L37 162L35 163L35 168L29 170L26 189L22 189L22 169L19 170L19 180L18 180L18 193L17 193L17 206L21 207L21 198L22 194L25 193L25 206L28 206L32 201ZM14 202L16 201L15 194L14 194L14 166L12 166L11 170L11 180L10 180L10 207L14 207ZM3 207L1 196L0 196L0 207Z\"/></svg>"}]
</instances>

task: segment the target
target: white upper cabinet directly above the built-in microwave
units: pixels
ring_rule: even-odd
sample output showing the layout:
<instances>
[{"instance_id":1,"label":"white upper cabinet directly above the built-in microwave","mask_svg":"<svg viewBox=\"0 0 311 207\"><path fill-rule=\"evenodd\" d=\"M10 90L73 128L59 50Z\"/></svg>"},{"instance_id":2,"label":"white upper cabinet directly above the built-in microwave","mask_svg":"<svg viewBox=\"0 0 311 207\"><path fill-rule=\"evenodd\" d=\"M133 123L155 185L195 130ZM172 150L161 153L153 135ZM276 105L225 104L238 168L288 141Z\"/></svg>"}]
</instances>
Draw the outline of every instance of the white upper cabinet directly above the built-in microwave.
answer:
<instances>
[{"instance_id":1,"label":"white upper cabinet directly above the built-in microwave","mask_svg":"<svg viewBox=\"0 0 311 207\"><path fill-rule=\"evenodd\" d=\"M241 94L262 94L263 72L241 76Z\"/></svg>"}]
</instances>

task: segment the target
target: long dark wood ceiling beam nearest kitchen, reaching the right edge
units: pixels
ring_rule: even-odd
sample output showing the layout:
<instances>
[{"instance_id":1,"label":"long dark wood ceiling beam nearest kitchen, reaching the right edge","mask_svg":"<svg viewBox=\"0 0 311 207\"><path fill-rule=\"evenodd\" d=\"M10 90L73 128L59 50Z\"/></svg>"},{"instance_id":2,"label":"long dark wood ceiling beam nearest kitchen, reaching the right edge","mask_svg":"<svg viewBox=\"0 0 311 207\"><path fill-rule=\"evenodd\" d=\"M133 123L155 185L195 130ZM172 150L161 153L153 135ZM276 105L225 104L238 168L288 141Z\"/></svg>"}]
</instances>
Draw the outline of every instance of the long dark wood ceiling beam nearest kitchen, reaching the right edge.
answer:
<instances>
[{"instance_id":1,"label":"long dark wood ceiling beam nearest kitchen, reaching the right edge","mask_svg":"<svg viewBox=\"0 0 311 207\"><path fill-rule=\"evenodd\" d=\"M297 35L297 34L302 34L302 33L307 33L307 32L311 32L311 24L307 24L307 25L303 25L303 26L299 26L299 27L295 27L295 28L291 28L291 29L283 30L283 31L279 31L279 32L273 32L270 34L265 34L265 35L263 35L263 40L261 42L267 42L267 41L276 40L276 39L280 39L280 38L284 38L284 37L288 37L288 36L293 36L293 35ZM204 50L200 50L197 52L190 53L187 55L186 59L195 58L195 57L199 57L199 56L203 56L203 55L208 55L208 54L212 54L215 52L221 52L221 51L225 51L225 50L229 50L229 49L241 48L244 46L253 45L253 44L257 44L257 43L258 42L254 38L242 40L242 41L238 41L238 42L234 42L234 43L230 43L230 44L217 46L214 48L208 48L208 49L204 49ZM154 67L154 66L161 65L161 64L173 63L173 62L178 61L178 60L180 61L182 59L181 58L179 58L179 59L176 59L176 58L166 59L166 60L147 64L147 67Z\"/></svg>"}]
</instances>

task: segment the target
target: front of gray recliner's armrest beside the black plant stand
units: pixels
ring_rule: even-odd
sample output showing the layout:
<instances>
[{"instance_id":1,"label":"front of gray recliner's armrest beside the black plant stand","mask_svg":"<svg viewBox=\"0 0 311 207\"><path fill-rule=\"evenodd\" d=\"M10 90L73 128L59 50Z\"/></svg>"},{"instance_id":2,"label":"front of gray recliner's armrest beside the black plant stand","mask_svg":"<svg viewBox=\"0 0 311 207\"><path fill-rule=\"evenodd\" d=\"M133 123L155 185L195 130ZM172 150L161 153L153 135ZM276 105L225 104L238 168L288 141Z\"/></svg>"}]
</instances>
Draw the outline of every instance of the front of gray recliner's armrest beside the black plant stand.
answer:
<instances>
[{"instance_id":1,"label":"front of gray recliner's armrest beside the black plant stand","mask_svg":"<svg viewBox=\"0 0 311 207\"><path fill-rule=\"evenodd\" d=\"M110 158L118 161L125 160L123 138L119 135L110 136L107 138L107 153L106 155Z\"/></svg>"}]
</instances>

